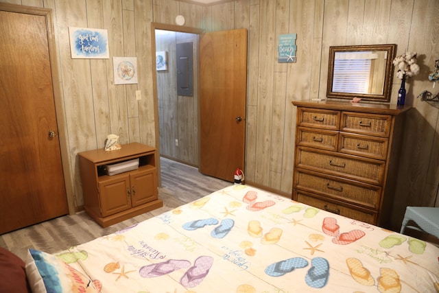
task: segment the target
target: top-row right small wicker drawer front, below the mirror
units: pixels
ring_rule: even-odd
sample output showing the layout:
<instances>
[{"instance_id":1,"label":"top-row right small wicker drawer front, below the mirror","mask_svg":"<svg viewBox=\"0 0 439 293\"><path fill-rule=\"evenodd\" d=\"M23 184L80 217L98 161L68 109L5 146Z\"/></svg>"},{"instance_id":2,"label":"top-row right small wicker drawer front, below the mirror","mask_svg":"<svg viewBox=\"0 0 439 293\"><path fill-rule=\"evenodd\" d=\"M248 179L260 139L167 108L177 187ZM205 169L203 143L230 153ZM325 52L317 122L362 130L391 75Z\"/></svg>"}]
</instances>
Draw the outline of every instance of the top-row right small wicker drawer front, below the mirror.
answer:
<instances>
[{"instance_id":1,"label":"top-row right small wicker drawer front, below the mirror","mask_svg":"<svg viewBox=\"0 0 439 293\"><path fill-rule=\"evenodd\" d=\"M391 123L392 116L390 115L342 112L340 130L389 137Z\"/></svg>"}]
</instances>

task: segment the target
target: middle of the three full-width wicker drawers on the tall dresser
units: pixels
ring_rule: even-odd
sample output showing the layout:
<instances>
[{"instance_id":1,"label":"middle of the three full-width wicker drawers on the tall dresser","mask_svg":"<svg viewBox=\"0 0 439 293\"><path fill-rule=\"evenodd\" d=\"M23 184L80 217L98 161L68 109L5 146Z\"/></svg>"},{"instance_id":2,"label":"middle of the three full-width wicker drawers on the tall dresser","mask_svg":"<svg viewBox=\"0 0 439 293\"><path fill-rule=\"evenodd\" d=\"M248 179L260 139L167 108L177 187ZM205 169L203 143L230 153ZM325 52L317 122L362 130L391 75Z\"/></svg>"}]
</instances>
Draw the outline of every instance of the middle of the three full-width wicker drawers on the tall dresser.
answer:
<instances>
[{"instance_id":1,"label":"middle of the three full-width wicker drawers on the tall dresser","mask_svg":"<svg viewBox=\"0 0 439 293\"><path fill-rule=\"evenodd\" d=\"M296 179L294 180L295 188L351 202L352 204L361 204L369 209L378 209L381 194L380 187L361 183L354 185L337 177L308 174L302 172L302 170L296 171L294 178Z\"/></svg>"}]
</instances>

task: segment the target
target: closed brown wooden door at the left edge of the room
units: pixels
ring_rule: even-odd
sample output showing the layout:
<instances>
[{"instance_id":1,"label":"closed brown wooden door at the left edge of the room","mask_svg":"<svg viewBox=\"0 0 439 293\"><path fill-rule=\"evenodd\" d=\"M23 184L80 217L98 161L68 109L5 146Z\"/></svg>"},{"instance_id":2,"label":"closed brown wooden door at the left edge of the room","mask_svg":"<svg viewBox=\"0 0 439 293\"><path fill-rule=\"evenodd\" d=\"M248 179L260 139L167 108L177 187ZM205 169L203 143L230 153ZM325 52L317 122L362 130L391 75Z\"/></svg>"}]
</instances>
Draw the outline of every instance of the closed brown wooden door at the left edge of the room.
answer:
<instances>
[{"instance_id":1,"label":"closed brown wooden door at the left edge of the room","mask_svg":"<svg viewBox=\"0 0 439 293\"><path fill-rule=\"evenodd\" d=\"M0 6L0 234L68 213L47 15L12 7Z\"/></svg>"}]
</instances>

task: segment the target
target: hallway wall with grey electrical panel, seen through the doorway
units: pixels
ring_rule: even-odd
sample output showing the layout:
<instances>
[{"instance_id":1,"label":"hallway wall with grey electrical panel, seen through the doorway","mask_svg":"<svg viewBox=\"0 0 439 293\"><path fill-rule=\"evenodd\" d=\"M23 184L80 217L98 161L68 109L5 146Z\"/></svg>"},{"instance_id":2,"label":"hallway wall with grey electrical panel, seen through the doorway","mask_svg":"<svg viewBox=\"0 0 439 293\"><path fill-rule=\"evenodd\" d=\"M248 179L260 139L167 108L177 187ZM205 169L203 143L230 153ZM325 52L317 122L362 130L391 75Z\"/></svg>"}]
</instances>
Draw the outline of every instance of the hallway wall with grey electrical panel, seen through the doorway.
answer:
<instances>
[{"instance_id":1,"label":"hallway wall with grey electrical panel, seen through the doorway","mask_svg":"<svg viewBox=\"0 0 439 293\"><path fill-rule=\"evenodd\" d=\"M160 154L198 167L199 35L155 32Z\"/></svg>"}]
</instances>

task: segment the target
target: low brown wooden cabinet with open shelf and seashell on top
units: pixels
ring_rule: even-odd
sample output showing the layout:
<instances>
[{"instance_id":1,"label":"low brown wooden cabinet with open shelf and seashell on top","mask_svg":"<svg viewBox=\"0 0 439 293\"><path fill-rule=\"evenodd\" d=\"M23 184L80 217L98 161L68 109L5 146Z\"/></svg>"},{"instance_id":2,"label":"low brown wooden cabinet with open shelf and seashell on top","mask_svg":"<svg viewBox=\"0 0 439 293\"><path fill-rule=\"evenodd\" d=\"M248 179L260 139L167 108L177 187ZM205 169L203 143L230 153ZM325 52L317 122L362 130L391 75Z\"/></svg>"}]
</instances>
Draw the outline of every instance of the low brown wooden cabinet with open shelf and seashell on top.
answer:
<instances>
[{"instance_id":1,"label":"low brown wooden cabinet with open shelf and seashell on top","mask_svg":"<svg viewBox=\"0 0 439 293\"><path fill-rule=\"evenodd\" d=\"M80 152L84 210L102 227L163 207L158 200L156 150L141 143L120 150ZM106 175L104 166L139 160L139 169Z\"/></svg>"}]
</instances>

